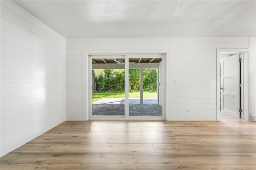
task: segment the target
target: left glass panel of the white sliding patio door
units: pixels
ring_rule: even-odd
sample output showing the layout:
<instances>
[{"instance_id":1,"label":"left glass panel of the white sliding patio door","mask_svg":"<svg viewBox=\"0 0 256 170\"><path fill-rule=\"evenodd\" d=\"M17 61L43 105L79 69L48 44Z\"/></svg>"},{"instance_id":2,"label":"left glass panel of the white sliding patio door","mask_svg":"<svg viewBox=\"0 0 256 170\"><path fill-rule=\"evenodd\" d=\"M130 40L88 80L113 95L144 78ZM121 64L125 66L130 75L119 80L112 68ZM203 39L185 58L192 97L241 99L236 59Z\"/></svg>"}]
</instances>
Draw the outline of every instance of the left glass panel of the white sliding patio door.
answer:
<instances>
[{"instance_id":1,"label":"left glass panel of the white sliding patio door","mask_svg":"<svg viewBox=\"0 0 256 170\"><path fill-rule=\"evenodd\" d=\"M92 58L92 116L124 117L124 59Z\"/></svg>"}]
</instances>

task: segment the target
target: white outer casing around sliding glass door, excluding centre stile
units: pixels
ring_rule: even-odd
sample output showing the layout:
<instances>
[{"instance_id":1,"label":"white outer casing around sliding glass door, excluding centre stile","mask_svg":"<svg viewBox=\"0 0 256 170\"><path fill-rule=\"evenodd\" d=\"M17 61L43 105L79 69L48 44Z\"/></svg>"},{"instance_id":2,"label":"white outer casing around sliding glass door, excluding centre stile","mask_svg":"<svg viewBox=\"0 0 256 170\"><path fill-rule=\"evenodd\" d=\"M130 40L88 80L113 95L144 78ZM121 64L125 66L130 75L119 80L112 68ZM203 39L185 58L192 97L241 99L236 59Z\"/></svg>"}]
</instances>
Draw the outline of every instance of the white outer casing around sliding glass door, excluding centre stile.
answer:
<instances>
[{"instance_id":1,"label":"white outer casing around sliding glass door, excluding centre stile","mask_svg":"<svg viewBox=\"0 0 256 170\"><path fill-rule=\"evenodd\" d=\"M165 112L165 117L130 117L126 115L126 117L109 117L104 119L148 119L148 120L158 120L158 119L166 119L170 120L170 88L165 88L165 87L170 87L170 50L84 50L83 51L83 104L84 104L84 113L83 113L83 120L88 120L88 119L102 119L100 118L90 118L89 113L90 113L90 85L88 82L90 82L90 68L91 68L91 62L90 62L90 57L89 55L152 55L152 54L164 54L164 60L165 62L165 71L163 74L165 74L165 80L166 82L163 85L163 90L166 94L165 96L165 106L163 106L163 110ZM125 58L125 63L128 64L128 57ZM168 66L167 66L168 65ZM127 73L126 73L127 74ZM168 103L167 103L168 102ZM127 113L127 111L126 111Z\"/></svg>"}]
</instances>

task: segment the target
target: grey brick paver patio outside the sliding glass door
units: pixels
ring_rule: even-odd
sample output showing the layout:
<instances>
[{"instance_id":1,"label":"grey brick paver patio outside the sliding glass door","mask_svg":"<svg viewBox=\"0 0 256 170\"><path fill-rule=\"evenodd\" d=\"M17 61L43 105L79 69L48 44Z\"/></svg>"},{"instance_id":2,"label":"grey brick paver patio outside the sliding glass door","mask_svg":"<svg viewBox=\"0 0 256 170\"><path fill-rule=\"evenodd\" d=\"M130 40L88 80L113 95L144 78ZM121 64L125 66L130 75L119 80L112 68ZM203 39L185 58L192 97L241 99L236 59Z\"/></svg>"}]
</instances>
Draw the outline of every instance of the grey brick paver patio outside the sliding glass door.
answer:
<instances>
[{"instance_id":1,"label":"grey brick paver patio outside the sliding glass door","mask_svg":"<svg viewBox=\"0 0 256 170\"><path fill-rule=\"evenodd\" d=\"M92 115L124 115L124 98L102 98L92 103ZM129 99L130 116L161 116L162 106L156 98Z\"/></svg>"}]
</instances>

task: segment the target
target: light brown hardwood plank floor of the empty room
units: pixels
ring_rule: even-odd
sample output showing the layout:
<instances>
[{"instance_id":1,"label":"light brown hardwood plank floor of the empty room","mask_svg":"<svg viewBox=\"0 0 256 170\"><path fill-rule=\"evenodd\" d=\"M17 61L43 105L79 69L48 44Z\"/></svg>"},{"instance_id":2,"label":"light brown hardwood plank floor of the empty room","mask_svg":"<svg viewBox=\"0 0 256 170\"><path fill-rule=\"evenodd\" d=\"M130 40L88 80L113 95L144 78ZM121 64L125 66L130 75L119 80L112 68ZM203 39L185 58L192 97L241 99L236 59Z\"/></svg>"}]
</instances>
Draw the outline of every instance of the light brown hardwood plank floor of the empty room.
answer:
<instances>
[{"instance_id":1,"label":"light brown hardwood plank floor of the empty room","mask_svg":"<svg viewBox=\"0 0 256 170\"><path fill-rule=\"evenodd\" d=\"M256 170L256 122L65 121L3 156L0 169Z\"/></svg>"}]
</instances>

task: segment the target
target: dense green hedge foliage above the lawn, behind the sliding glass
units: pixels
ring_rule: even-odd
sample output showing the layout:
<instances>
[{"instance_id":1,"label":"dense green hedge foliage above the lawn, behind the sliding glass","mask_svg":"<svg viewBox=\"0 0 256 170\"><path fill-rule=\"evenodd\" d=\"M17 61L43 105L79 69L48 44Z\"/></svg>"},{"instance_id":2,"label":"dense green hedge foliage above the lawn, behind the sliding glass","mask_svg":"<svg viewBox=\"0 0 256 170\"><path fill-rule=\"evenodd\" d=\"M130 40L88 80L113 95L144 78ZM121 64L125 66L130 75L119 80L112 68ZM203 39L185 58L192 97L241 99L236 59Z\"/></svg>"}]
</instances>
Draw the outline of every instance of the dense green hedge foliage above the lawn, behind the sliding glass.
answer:
<instances>
[{"instance_id":1,"label":"dense green hedge foliage above the lawn, behind the sliding glass","mask_svg":"<svg viewBox=\"0 0 256 170\"><path fill-rule=\"evenodd\" d=\"M124 70L94 70L95 92L124 92ZM157 69L143 69L143 91L157 92ZM129 70L129 91L140 91L140 69Z\"/></svg>"}]
</instances>

